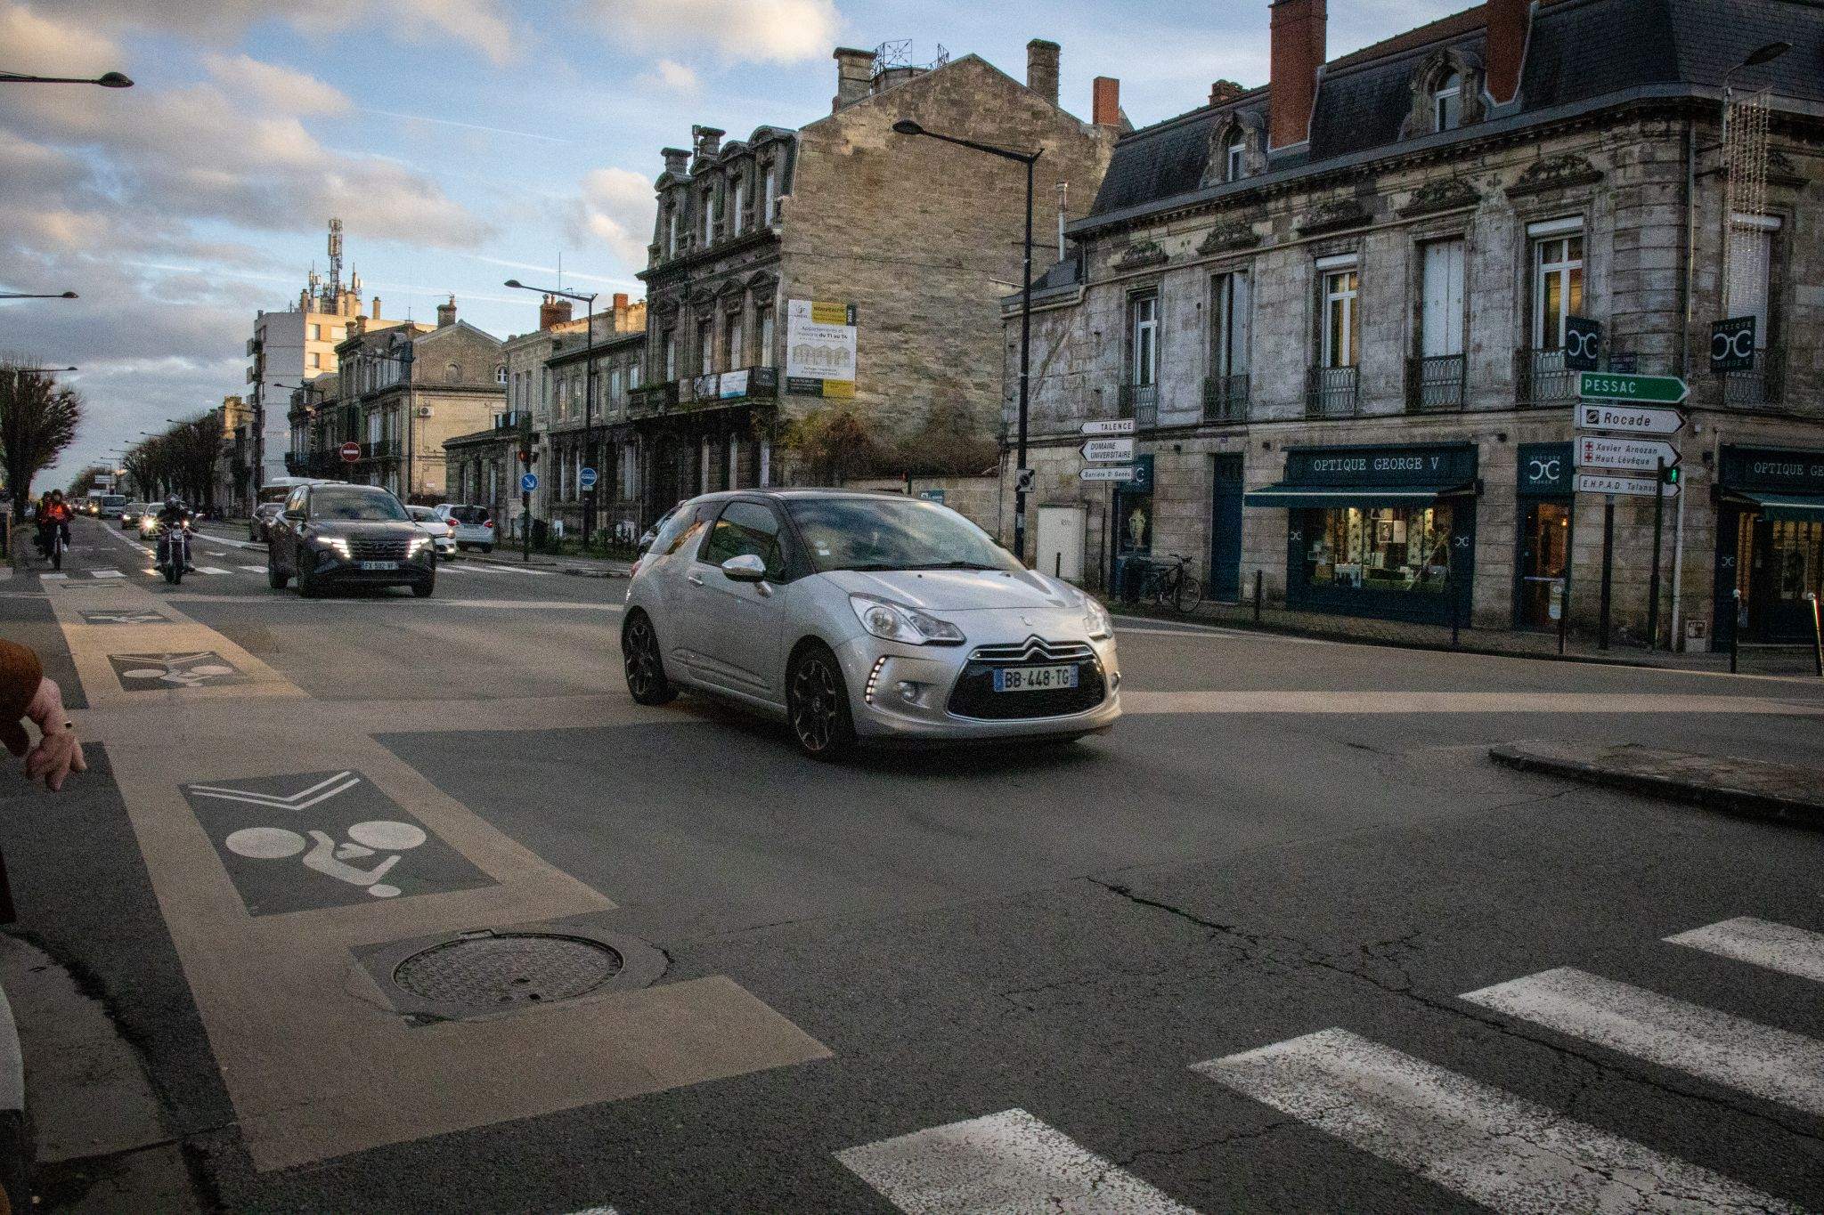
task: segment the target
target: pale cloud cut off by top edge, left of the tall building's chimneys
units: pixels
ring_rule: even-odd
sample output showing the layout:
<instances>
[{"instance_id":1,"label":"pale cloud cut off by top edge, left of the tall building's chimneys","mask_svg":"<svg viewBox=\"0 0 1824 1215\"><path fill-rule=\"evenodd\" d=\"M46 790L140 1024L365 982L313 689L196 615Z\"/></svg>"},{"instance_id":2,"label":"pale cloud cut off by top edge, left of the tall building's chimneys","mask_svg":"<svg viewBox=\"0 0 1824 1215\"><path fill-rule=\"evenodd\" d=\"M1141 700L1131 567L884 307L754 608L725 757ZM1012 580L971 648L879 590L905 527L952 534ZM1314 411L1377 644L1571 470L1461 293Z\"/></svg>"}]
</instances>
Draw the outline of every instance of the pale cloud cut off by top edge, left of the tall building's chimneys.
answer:
<instances>
[{"instance_id":1,"label":"pale cloud cut off by top edge, left of the tall building's chimneys","mask_svg":"<svg viewBox=\"0 0 1824 1215\"><path fill-rule=\"evenodd\" d=\"M770 64L828 55L839 26L832 0L615 0L598 11L609 36L640 49Z\"/></svg>"}]
</instances>

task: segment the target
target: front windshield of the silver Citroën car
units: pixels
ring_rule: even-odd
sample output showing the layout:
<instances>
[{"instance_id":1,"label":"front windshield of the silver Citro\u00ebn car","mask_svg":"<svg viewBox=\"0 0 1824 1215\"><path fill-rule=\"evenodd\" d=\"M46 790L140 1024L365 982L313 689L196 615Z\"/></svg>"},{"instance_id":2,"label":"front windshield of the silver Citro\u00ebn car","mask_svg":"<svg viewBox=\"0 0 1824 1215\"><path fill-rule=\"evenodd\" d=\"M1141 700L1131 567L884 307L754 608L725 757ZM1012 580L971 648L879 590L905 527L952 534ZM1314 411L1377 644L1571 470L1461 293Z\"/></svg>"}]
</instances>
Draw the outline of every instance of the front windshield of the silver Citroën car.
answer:
<instances>
[{"instance_id":1,"label":"front windshield of the silver Citro\u00ebn car","mask_svg":"<svg viewBox=\"0 0 1824 1215\"><path fill-rule=\"evenodd\" d=\"M826 570L1018 570L1020 563L963 516L912 499L801 497L786 510L810 561Z\"/></svg>"}]
</instances>

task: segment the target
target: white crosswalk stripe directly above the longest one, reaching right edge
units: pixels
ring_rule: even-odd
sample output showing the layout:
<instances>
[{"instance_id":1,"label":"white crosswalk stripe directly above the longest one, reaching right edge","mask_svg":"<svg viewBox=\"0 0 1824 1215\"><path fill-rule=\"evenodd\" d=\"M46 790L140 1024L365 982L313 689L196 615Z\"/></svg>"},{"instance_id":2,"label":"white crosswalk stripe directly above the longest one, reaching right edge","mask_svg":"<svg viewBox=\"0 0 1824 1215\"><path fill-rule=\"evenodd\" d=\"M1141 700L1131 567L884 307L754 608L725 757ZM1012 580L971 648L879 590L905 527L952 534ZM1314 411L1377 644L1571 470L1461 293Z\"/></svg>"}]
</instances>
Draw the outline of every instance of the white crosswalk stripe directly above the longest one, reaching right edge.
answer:
<instances>
[{"instance_id":1,"label":"white crosswalk stripe directly above the longest one, reaching right edge","mask_svg":"<svg viewBox=\"0 0 1824 1215\"><path fill-rule=\"evenodd\" d=\"M1824 1042L1572 967L1463 996L1660 1067L1824 1115Z\"/></svg>"}]
</instances>

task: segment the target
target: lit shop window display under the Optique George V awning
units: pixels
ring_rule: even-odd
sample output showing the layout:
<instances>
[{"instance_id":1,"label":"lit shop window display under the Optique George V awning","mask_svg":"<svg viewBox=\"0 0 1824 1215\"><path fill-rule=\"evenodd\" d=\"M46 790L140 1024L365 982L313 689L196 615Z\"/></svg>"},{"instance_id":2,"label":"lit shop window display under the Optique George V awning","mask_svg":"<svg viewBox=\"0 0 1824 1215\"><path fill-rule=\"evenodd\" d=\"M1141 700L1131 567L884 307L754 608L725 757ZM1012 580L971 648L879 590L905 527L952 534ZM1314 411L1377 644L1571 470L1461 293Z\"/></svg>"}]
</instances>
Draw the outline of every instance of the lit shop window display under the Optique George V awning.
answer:
<instances>
[{"instance_id":1,"label":"lit shop window display under the Optique George V awning","mask_svg":"<svg viewBox=\"0 0 1824 1215\"><path fill-rule=\"evenodd\" d=\"M1310 587L1445 592L1450 506L1339 506L1302 514Z\"/></svg>"}]
</instances>

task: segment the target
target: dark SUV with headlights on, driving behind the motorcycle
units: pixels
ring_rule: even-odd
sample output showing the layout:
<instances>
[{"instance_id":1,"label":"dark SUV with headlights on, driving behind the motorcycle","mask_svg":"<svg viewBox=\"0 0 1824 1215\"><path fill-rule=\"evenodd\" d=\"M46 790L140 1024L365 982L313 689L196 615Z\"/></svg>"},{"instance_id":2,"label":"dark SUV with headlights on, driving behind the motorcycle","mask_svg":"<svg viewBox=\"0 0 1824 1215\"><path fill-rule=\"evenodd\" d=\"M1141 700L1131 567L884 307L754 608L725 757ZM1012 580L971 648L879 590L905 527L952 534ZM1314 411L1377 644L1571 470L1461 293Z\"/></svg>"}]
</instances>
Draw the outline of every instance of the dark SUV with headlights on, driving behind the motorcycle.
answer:
<instances>
[{"instance_id":1,"label":"dark SUV with headlights on, driving behind the motorcycle","mask_svg":"<svg viewBox=\"0 0 1824 1215\"><path fill-rule=\"evenodd\" d=\"M301 485L266 532L266 581L319 596L332 587L436 587L436 548L389 490L372 485Z\"/></svg>"}]
</instances>

